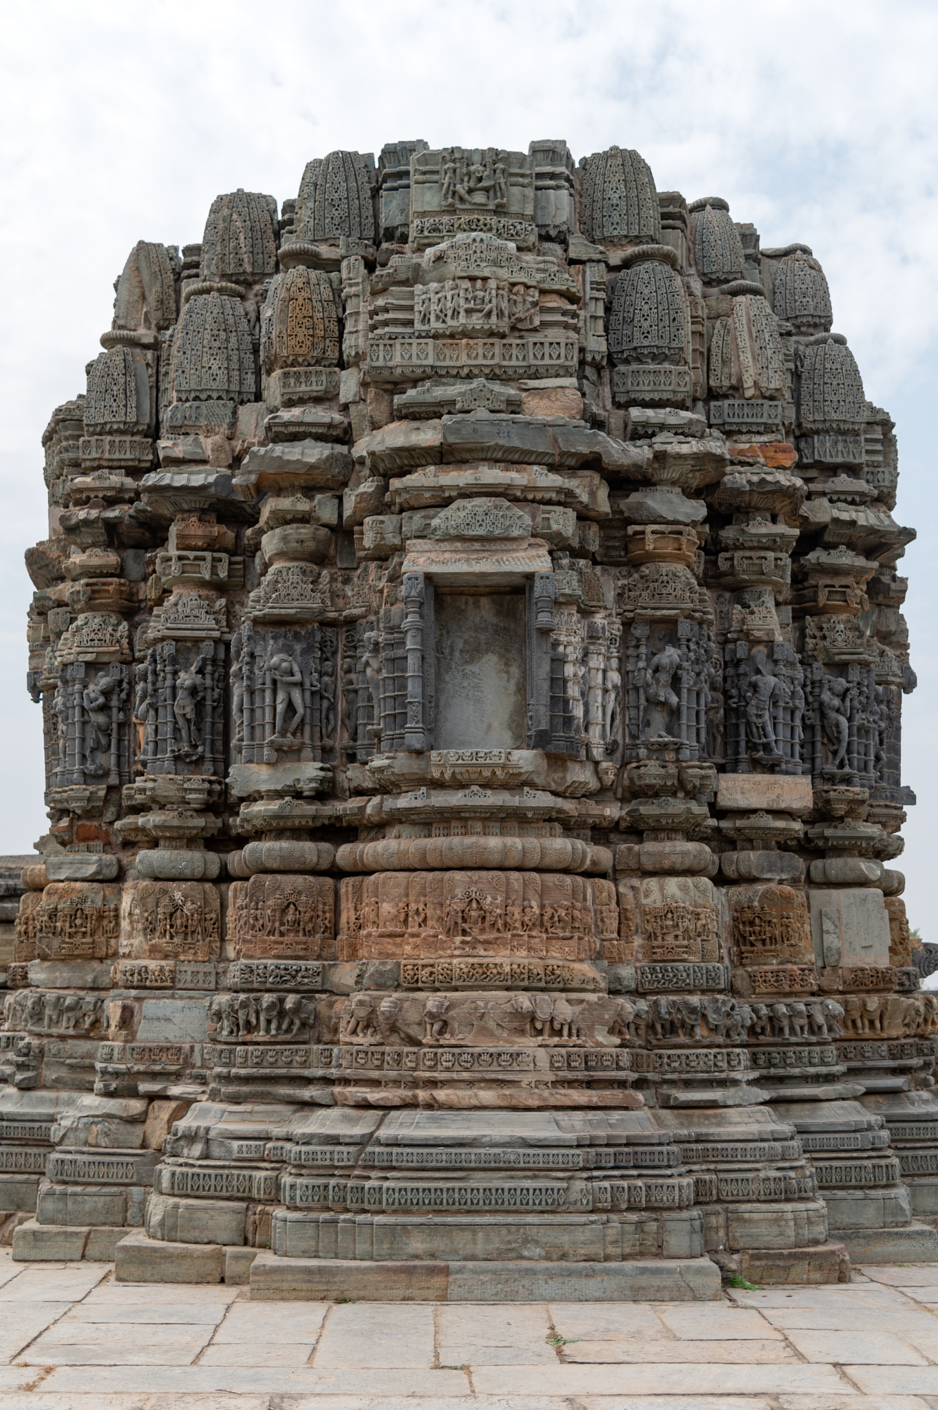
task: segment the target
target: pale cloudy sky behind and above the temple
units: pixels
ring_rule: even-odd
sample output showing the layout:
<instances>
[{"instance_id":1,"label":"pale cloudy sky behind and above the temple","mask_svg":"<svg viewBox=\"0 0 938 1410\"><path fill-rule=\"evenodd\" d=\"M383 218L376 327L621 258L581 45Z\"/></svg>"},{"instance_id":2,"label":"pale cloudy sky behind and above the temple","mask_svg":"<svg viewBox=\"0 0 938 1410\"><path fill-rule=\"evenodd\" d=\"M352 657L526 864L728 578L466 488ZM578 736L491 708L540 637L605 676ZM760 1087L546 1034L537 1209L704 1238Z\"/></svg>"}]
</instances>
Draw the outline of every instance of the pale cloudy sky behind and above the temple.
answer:
<instances>
[{"instance_id":1,"label":"pale cloudy sky behind and above the temple","mask_svg":"<svg viewBox=\"0 0 938 1410\"><path fill-rule=\"evenodd\" d=\"M938 6L34 0L6 11L4 41L0 852L46 828L39 709L23 687L39 439L85 388L131 247L200 240L213 196L237 186L293 197L304 164L334 148L563 137L576 159L635 147L659 189L724 196L763 245L800 240L824 264L834 329L897 423L896 517L918 529L901 568L920 680L904 781L921 801L899 864L911 924L938 940Z\"/></svg>"}]
</instances>

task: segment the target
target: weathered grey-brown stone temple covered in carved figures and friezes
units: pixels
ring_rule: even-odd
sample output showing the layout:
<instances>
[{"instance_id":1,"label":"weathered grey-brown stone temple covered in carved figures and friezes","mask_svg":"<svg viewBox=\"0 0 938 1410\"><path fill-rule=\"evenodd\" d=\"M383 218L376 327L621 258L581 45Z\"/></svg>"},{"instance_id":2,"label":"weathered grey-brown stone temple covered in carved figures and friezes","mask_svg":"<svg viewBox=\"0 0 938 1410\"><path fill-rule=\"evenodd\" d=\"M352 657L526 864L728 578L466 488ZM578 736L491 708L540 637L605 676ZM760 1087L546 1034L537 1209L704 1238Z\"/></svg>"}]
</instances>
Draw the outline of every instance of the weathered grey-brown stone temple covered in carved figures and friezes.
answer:
<instances>
[{"instance_id":1,"label":"weathered grey-brown stone temple covered in carved figures and friezes","mask_svg":"<svg viewBox=\"0 0 938 1410\"><path fill-rule=\"evenodd\" d=\"M808 245L625 148L401 141L115 290L27 551L14 1258L454 1300L937 1259L914 534Z\"/></svg>"}]
</instances>

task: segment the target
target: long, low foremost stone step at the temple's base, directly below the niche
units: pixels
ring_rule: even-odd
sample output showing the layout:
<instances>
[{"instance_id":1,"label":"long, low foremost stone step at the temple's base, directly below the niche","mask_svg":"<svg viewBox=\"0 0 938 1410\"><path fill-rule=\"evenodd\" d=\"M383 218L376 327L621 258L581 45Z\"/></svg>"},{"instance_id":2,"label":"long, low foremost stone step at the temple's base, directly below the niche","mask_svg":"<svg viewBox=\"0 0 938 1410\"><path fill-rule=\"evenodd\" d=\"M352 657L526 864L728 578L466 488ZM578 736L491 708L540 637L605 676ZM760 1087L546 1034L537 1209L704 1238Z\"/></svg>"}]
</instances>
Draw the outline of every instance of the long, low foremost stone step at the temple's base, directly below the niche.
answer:
<instances>
[{"instance_id":1,"label":"long, low foremost stone step at the temple's base, directly below the niche","mask_svg":"<svg viewBox=\"0 0 938 1410\"><path fill-rule=\"evenodd\" d=\"M720 1269L708 1258L621 1263L435 1262L279 1258L258 1253L251 1299L283 1301L537 1303L715 1301Z\"/></svg>"}]
</instances>

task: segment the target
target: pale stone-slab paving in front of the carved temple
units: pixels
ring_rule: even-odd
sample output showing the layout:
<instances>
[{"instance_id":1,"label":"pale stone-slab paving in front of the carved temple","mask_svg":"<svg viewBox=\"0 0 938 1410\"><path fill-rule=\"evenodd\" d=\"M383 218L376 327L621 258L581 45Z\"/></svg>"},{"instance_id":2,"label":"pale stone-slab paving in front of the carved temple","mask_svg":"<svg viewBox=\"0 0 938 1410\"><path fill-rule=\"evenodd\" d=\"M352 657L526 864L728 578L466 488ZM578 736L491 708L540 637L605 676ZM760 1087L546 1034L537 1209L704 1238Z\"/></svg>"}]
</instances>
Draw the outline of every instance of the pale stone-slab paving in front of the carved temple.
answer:
<instances>
[{"instance_id":1,"label":"pale stone-slab paving in front of the carved temple","mask_svg":"<svg viewBox=\"0 0 938 1410\"><path fill-rule=\"evenodd\" d=\"M251 1303L0 1251L0 1410L938 1410L938 1265L720 1303Z\"/></svg>"}]
</instances>

